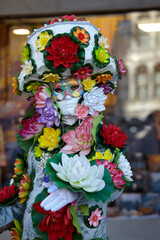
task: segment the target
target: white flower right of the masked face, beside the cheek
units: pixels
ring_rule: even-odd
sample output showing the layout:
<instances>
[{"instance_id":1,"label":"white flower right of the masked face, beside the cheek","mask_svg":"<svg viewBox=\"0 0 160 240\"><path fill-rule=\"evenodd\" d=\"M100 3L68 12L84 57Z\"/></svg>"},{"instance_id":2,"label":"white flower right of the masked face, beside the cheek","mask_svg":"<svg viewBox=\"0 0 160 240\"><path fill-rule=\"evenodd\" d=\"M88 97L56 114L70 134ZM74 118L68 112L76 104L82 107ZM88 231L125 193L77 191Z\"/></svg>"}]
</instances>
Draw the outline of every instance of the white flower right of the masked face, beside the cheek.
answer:
<instances>
[{"instance_id":1,"label":"white flower right of the masked face, beside the cheek","mask_svg":"<svg viewBox=\"0 0 160 240\"><path fill-rule=\"evenodd\" d=\"M105 110L104 103L107 96L104 94L103 88L94 87L91 92L85 92L83 98L83 104L89 107L89 114L93 115L95 111Z\"/></svg>"}]
</instances>

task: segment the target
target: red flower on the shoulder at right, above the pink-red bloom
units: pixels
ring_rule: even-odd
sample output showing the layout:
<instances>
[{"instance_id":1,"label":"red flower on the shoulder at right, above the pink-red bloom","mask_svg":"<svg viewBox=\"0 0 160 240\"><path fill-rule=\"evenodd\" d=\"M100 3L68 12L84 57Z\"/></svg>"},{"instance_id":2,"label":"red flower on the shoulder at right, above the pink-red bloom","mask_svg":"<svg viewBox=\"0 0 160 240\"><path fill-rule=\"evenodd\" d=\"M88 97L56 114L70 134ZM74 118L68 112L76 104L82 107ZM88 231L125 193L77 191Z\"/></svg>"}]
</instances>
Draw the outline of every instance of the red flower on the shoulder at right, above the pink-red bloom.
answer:
<instances>
[{"instance_id":1,"label":"red flower on the shoulder at right, above the pink-red bloom","mask_svg":"<svg viewBox=\"0 0 160 240\"><path fill-rule=\"evenodd\" d=\"M126 133L121 132L120 127L111 124L109 124L108 127L103 124L101 134L106 145L112 145L118 148L124 148L126 140L128 139Z\"/></svg>"}]
</instances>

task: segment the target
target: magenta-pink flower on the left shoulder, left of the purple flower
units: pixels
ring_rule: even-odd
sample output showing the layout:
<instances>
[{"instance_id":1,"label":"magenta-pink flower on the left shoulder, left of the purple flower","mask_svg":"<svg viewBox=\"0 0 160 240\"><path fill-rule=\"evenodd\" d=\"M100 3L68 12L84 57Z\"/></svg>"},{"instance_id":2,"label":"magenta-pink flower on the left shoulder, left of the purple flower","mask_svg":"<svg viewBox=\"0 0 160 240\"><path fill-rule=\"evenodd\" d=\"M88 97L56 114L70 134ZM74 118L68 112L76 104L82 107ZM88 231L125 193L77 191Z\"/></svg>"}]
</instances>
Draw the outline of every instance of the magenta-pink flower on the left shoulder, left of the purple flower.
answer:
<instances>
[{"instance_id":1,"label":"magenta-pink flower on the left shoulder, left of the purple flower","mask_svg":"<svg viewBox=\"0 0 160 240\"><path fill-rule=\"evenodd\" d=\"M44 123L39 123L38 119L39 114L36 112L31 118L23 120L21 122L23 129L19 130L19 134L26 139L34 137L44 126Z\"/></svg>"}]
</instances>

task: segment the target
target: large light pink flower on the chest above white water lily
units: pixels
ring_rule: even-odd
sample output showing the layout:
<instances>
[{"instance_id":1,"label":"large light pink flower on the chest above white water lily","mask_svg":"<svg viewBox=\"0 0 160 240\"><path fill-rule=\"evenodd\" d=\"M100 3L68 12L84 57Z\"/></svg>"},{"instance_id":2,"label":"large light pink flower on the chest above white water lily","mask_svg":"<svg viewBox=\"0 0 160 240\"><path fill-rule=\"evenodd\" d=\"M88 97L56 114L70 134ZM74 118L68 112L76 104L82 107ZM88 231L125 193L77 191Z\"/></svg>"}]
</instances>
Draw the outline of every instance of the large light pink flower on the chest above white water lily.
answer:
<instances>
[{"instance_id":1,"label":"large light pink flower on the chest above white water lily","mask_svg":"<svg viewBox=\"0 0 160 240\"><path fill-rule=\"evenodd\" d=\"M60 152L70 154L79 152L79 155L88 155L91 151L93 145L93 119L94 117L90 116L82 122L75 130L70 130L66 132L62 139L66 146L64 146Z\"/></svg>"}]
</instances>

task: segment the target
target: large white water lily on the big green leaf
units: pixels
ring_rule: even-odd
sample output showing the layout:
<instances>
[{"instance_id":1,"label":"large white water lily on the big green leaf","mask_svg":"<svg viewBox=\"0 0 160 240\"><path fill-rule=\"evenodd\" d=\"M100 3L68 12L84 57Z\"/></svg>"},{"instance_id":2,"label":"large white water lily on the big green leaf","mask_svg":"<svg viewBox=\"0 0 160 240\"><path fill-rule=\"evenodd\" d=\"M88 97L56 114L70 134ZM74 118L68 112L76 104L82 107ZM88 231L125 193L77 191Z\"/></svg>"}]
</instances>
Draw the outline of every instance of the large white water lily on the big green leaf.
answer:
<instances>
[{"instance_id":1,"label":"large white water lily on the big green leaf","mask_svg":"<svg viewBox=\"0 0 160 240\"><path fill-rule=\"evenodd\" d=\"M85 156L68 157L63 153L62 164L51 163L51 166L57 172L57 177L69 182L73 188L98 192L105 187L105 182L102 180L104 166L91 166Z\"/></svg>"}]
</instances>

